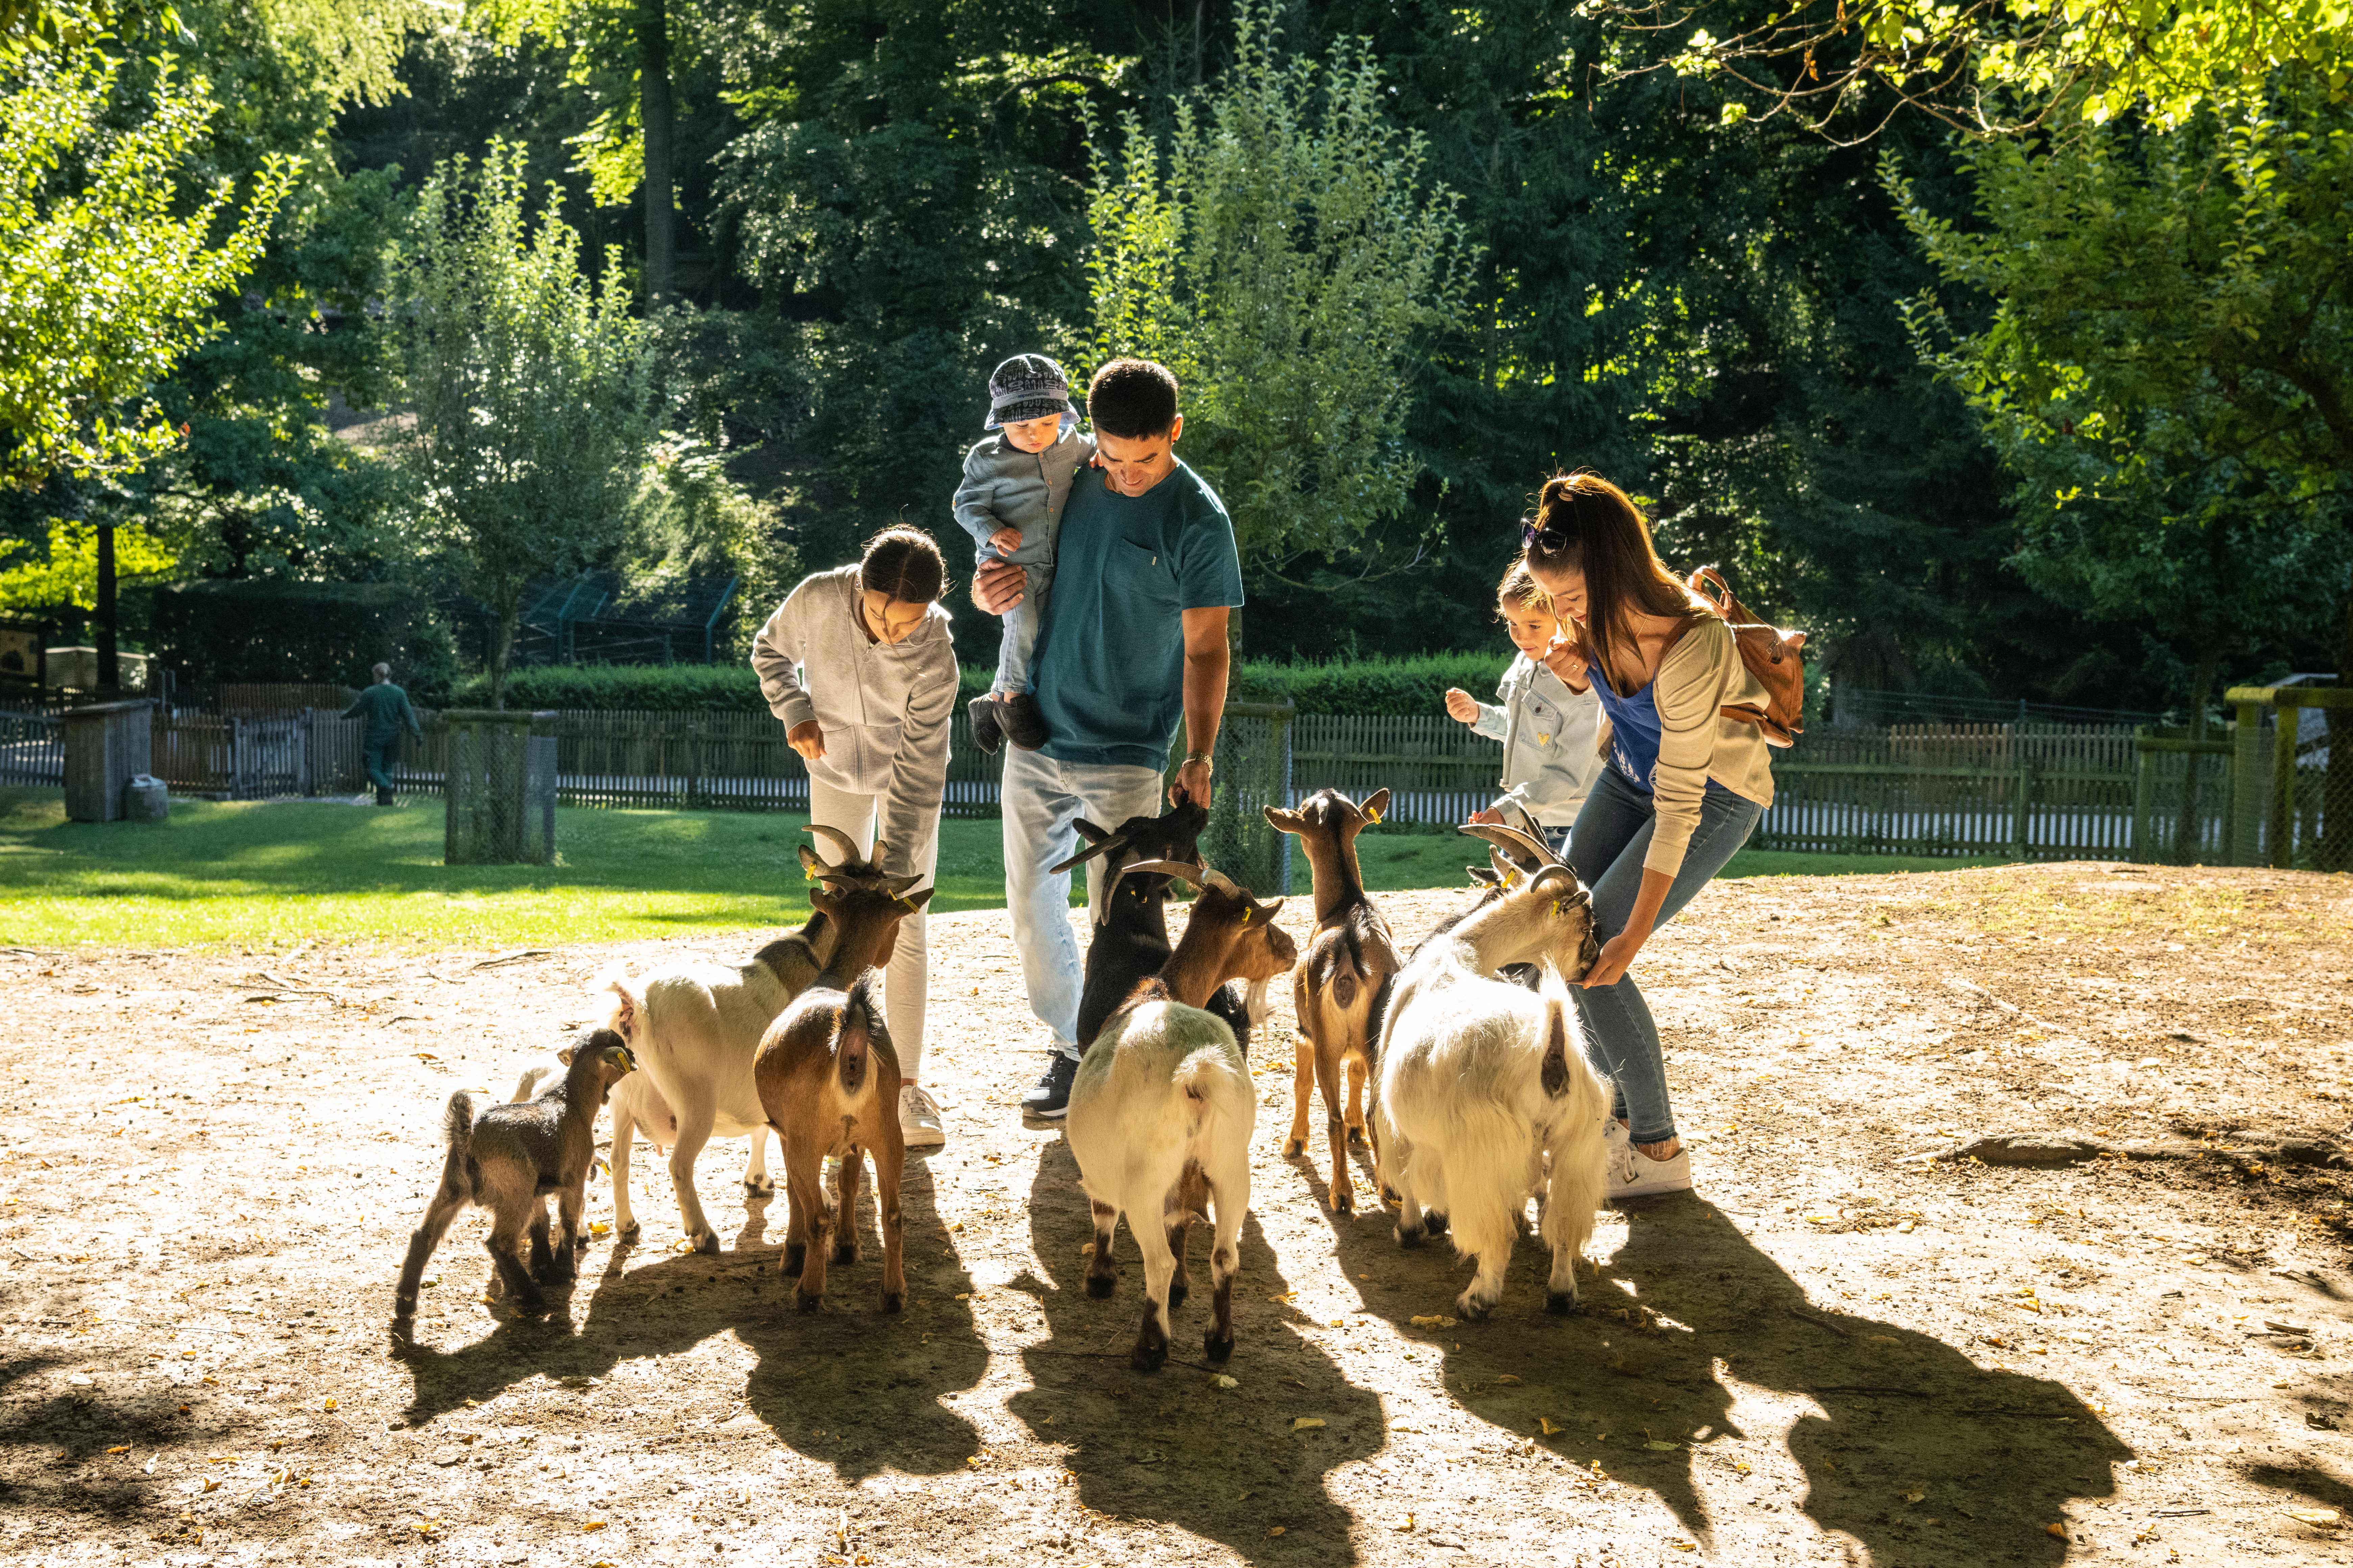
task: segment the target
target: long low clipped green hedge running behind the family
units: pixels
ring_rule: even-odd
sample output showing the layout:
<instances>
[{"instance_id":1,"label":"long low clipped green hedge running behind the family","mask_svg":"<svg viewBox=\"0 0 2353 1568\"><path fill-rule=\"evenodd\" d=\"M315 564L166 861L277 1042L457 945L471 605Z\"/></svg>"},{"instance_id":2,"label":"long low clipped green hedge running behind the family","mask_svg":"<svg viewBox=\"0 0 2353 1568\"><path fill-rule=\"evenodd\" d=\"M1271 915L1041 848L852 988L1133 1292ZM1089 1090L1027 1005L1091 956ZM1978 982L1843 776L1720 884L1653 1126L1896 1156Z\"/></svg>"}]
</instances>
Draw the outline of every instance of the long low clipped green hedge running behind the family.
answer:
<instances>
[{"instance_id":1,"label":"long low clipped green hedge running behind the family","mask_svg":"<svg viewBox=\"0 0 2353 1568\"><path fill-rule=\"evenodd\" d=\"M1299 712L1431 715L1445 712L1447 686L1492 698L1508 654L1421 654L1285 665L1242 661L1233 696L1266 703L1292 698ZM988 670L965 665L958 708L988 691ZM489 682L471 675L454 701L489 701ZM652 708L666 712L760 712L751 665L529 665L506 677L508 708Z\"/></svg>"}]
</instances>

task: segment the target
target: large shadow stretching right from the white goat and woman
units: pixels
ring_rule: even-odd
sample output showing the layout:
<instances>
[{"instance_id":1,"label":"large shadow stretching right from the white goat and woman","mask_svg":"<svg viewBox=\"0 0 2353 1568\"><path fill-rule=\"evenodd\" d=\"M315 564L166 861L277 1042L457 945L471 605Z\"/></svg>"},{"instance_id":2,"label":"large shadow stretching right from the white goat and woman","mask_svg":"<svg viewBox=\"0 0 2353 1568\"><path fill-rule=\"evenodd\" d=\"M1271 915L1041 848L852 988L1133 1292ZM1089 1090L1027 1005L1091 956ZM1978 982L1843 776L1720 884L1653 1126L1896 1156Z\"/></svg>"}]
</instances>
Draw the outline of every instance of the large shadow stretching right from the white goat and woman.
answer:
<instances>
[{"instance_id":1,"label":"large shadow stretching right from the white goat and woman","mask_svg":"<svg viewBox=\"0 0 2353 1568\"><path fill-rule=\"evenodd\" d=\"M1861 1542L1868 1561L2059 1563L2066 1542L2045 1526L2075 1500L2111 1495L2111 1467L2132 1458L2059 1382L1986 1371L1929 1335L1809 1305L1699 1197L1649 1201L1628 1229L1598 1281L1584 1272L1581 1316L1544 1314L1546 1253L1522 1239L1494 1319L1445 1335L1405 1321L1452 1309L1468 1265L1447 1248L1412 1253L1431 1262L1414 1286L1407 1276L1424 1269L1381 1267L1384 1253L1398 1258L1388 1227L1344 1227L1341 1260L1351 1276L1369 1274L1367 1305L1409 1338L1435 1349L1459 1340L1445 1380L1466 1410L1520 1439L1544 1420L1565 1427L1546 1448L1652 1490L1701 1542L1711 1519L1697 1469L1729 1472L1734 1455L1711 1446L1753 1436L1732 1420L1727 1378L1821 1408L1788 1432L1807 1481L1800 1507ZM1711 1436L1689 1443L1701 1427Z\"/></svg>"}]
</instances>

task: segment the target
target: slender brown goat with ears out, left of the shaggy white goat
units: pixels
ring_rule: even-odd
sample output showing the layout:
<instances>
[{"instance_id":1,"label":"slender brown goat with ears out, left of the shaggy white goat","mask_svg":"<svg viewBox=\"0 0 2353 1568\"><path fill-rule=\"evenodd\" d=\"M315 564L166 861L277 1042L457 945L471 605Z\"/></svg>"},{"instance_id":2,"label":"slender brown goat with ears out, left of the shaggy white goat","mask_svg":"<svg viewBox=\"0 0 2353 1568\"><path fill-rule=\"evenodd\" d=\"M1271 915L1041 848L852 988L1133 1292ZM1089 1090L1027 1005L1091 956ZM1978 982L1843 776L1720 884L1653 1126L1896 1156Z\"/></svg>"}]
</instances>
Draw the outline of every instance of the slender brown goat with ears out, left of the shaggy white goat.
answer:
<instances>
[{"instance_id":1,"label":"slender brown goat with ears out, left of the shaggy white goat","mask_svg":"<svg viewBox=\"0 0 2353 1568\"><path fill-rule=\"evenodd\" d=\"M1318 790L1297 811L1266 809L1266 820L1297 835L1315 872L1315 936L1306 964L1292 980L1299 1011L1299 1077L1292 1088L1292 1135L1282 1157L1308 1147L1308 1093L1322 1086L1332 1135L1332 1213L1355 1211L1348 1180L1348 1145L1365 1143L1365 1079L1381 1044L1388 987L1405 961L1388 940L1388 922L1365 898L1365 875L1355 863L1355 835L1388 811L1388 790L1374 790L1362 806L1339 790ZM1348 1074L1348 1112L1341 1114L1339 1084Z\"/></svg>"}]
</instances>

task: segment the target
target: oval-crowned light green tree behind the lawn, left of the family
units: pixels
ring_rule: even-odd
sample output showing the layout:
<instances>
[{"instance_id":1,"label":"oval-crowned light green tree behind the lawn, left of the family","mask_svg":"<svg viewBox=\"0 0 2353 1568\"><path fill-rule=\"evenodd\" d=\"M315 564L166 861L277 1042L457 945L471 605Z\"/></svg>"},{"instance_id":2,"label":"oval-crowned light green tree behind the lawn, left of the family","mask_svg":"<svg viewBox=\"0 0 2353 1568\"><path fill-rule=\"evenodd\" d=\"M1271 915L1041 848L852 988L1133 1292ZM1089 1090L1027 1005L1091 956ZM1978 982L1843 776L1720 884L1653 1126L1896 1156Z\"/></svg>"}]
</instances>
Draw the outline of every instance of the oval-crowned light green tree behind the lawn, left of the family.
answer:
<instances>
[{"instance_id":1,"label":"oval-crowned light green tree behind the lawn, left of the family","mask_svg":"<svg viewBox=\"0 0 2353 1568\"><path fill-rule=\"evenodd\" d=\"M654 430L645 324L612 259L588 282L553 207L527 226L520 148L504 143L433 172L388 294L414 407L400 461L426 538L492 616L499 708L525 588L626 536Z\"/></svg>"}]
</instances>

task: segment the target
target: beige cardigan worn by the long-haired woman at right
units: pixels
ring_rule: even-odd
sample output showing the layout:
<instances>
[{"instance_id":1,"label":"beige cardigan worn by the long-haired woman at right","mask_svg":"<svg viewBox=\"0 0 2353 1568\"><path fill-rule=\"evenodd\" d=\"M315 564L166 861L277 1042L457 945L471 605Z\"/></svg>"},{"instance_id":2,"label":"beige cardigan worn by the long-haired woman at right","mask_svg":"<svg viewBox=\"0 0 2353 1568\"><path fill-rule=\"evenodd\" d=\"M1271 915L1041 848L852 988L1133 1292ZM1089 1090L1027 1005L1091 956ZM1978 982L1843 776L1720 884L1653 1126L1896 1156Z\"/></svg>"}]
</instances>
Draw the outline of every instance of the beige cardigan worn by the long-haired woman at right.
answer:
<instances>
[{"instance_id":1,"label":"beige cardigan worn by the long-haired woman at right","mask_svg":"<svg viewBox=\"0 0 2353 1568\"><path fill-rule=\"evenodd\" d=\"M1732 628L1706 616L1659 661L1652 698L1659 705L1659 771L1649 783L1659 816L1642 870L1673 877L1699 827L1699 802L1711 778L1772 806L1765 731L1718 712L1725 703L1762 705L1765 686L1741 663Z\"/></svg>"}]
</instances>

